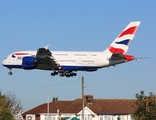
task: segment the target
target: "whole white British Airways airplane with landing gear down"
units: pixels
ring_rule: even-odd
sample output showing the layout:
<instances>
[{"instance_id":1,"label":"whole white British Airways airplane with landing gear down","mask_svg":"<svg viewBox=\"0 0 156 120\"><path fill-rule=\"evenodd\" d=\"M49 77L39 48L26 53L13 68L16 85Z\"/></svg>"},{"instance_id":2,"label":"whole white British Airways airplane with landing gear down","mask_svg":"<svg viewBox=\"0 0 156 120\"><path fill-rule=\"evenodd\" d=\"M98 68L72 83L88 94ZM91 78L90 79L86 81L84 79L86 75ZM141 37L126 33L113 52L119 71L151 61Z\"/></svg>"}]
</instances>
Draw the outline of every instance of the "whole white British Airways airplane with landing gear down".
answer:
<instances>
[{"instance_id":1,"label":"whole white British Airways airplane with landing gear down","mask_svg":"<svg viewBox=\"0 0 156 120\"><path fill-rule=\"evenodd\" d=\"M126 55L134 35L140 25L140 21L130 22L119 36L106 50L101 52L85 51L50 51L48 46L37 51L20 51L10 54L3 60L2 65L9 68L24 70L50 70L51 76L72 77L77 71L97 71L100 68L115 66L135 59L132 55Z\"/></svg>"}]
</instances>

